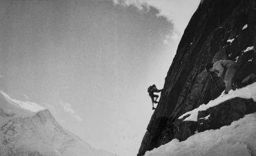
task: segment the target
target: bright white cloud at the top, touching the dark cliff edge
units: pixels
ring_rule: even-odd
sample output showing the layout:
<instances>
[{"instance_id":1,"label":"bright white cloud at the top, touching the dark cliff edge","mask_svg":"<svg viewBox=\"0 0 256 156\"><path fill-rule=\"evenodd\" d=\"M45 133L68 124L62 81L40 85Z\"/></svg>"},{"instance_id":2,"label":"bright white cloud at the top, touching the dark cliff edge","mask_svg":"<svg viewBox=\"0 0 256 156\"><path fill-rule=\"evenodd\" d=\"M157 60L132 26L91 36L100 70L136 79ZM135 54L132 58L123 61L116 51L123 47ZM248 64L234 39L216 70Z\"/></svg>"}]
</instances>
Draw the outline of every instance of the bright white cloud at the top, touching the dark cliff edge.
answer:
<instances>
[{"instance_id":1,"label":"bright white cloud at the top, touching the dark cliff edge","mask_svg":"<svg viewBox=\"0 0 256 156\"><path fill-rule=\"evenodd\" d=\"M174 23L174 28L179 33L174 33L172 37L174 40L181 39L181 35L188 25L188 21L192 17L196 8L199 6L201 0L183 0L183 1L158 1L158 0L113 0L113 3L120 4L122 6L133 5L139 10L146 8L149 10L149 6L152 6L158 10L157 17L166 17L168 21ZM166 43L166 41L164 41Z\"/></svg>"}]
</instances>

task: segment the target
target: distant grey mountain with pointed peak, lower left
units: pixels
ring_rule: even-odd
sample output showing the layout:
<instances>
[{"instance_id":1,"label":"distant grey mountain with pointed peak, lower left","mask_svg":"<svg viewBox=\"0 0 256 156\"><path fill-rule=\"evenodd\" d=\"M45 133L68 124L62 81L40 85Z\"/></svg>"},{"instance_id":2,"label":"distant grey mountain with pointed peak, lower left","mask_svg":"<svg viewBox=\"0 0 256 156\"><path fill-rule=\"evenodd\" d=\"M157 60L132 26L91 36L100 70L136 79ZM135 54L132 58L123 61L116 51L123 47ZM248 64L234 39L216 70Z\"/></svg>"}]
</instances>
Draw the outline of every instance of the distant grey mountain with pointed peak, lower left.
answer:
<instances>
[{"instance_id":1,"label":"distant grey mountain with pointed peak, lower left","mask_svg":"<svg viewBox=\"0 0 256 156\"><path fill-rule=\"evenodd\" d=\"M68 132L49 110L37 113L10 103L0 93L1 156L114 156Z\"/></svg>"}]
</instances>

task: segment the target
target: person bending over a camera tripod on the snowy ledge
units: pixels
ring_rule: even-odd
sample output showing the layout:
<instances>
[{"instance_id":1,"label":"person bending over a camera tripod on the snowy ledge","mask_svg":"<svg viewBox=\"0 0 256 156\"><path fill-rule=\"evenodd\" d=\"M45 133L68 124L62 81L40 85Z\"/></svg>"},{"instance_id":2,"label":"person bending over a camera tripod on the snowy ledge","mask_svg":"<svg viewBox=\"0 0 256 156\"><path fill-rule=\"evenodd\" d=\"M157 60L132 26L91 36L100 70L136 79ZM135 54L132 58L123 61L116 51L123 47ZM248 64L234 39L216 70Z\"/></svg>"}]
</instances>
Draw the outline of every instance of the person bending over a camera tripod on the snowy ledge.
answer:
<instances>
[{"instance_id":1,"label":"person bending over a camera tripod on the snowy ledge","mask_svg":"<svg viewBox=\"0 0 256 156\"><path fill-rule=\"evenodd\" d=\"M224 94L228 94L231 89L235 89L233 84L235 83L235 80L237 79L237 75L239 74L240 70L239 64L237 64L235 61L219 60L216 61L214 64L209 63L206 64L206 70L208 72L216 72L218 77L221 77L223 72L226 70L226 75L224 77L226 88Z\"/></svg>"}]
</instances>

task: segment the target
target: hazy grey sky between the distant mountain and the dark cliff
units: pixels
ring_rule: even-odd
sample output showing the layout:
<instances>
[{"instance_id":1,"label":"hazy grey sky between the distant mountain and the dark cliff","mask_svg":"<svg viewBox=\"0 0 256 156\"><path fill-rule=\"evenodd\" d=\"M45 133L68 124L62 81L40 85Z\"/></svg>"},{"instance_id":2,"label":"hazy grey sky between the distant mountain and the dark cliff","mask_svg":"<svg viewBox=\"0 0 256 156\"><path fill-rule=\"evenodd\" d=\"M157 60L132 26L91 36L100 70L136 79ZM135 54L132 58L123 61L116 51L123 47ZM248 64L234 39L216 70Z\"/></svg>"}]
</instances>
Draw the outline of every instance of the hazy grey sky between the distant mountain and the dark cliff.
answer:
<instances>
[{"instance_id":1,"label":"hazy grey sky between the distant mountain and the dark cliff","mask_svg":"<svg viewBox=\"0 0 256 156\"><path fill-rule=\"evenodd\" d=\"M136 155L200 0L0 1L0 89L94 148Z\"/></svg>"}]
</instances>

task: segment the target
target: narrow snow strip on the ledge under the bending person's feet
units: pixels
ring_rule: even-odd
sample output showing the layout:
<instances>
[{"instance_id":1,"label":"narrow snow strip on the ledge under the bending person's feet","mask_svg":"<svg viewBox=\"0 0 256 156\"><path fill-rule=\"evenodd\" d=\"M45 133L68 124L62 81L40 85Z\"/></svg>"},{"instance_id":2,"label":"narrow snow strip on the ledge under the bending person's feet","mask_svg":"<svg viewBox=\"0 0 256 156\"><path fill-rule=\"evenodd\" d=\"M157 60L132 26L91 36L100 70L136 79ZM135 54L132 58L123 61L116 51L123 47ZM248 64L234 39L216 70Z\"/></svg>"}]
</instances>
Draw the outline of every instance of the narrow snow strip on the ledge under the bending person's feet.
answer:
<instances>
[{"instance_id":1,"label":"narrow snow strip on the ledge under the bending person's feet","mask_svg":"<svg viewBox=\"0 0 256 156\"><path fill-rule=\"evenodd\" d=\"M179 117L179 119L182 119L185 117L185 115L190 115L189 117L185 118L183 121L197 121L197 115L199 111L207 110L208 108L211 108L213 106L217 106L224 101L227 101L228 99L233 99L235 97L241 97L243 99L253 99L253 101L256 101L256 82L253 84L250 84L244 88L240 88L237 90L230 90L228 92L228 95L220 95L214 100L209 101L207 105L202 104L198 108L195 108L194 110L191 110Z\"/></svg>"}]
</instances>

